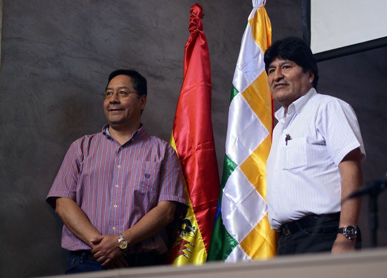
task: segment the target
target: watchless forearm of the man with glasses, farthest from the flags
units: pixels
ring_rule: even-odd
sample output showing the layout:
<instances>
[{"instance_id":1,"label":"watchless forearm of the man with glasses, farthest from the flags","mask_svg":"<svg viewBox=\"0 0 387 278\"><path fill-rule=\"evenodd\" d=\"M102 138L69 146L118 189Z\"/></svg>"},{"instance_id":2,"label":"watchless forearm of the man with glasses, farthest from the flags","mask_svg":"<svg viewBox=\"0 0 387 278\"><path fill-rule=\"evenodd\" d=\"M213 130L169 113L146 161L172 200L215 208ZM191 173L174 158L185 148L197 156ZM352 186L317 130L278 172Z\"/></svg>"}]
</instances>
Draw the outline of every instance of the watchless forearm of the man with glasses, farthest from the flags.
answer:
<instances>
[{"instance_id":1,"label":"watchless forearm of the man with glasses, farthest from the flags","mask_svg":"<svg viewBox=\"0 0 387 278\"><path fill-rule=\"evenodd\" d=\"M56 199L55 213L73 235L90 247L95 246L90 240L101 233L90 223L86 214L73 200L69 198Z\"/></svg>"}]
</instances>

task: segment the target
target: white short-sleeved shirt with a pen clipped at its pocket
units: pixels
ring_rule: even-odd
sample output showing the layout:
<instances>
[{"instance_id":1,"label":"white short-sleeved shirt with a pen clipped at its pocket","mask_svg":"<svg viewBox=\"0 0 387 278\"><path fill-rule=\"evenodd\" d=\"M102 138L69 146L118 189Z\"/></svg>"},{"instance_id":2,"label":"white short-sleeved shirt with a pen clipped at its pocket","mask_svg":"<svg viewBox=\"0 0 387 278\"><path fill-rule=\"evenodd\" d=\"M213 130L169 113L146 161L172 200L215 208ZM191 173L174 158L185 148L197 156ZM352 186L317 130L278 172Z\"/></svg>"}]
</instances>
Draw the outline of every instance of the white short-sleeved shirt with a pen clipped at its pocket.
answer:
<instances>
[{"instance_id":1,"label":"white short-sleeved shirt with a pen clipped at its pocket","mask_svg":"<svg viewBox=\"0 0 387 278\"><path fill-rule=\"evenodd\" d=\"M269 221L274 230L310 214L341 209L338 165L351 150L365 158L359 124L351 106L334 97L307 94L275 117L267 160ZM288 135L288 136L287 136ZM289 138L286 141L286 138Z\"/></svg>"}]
</instances>

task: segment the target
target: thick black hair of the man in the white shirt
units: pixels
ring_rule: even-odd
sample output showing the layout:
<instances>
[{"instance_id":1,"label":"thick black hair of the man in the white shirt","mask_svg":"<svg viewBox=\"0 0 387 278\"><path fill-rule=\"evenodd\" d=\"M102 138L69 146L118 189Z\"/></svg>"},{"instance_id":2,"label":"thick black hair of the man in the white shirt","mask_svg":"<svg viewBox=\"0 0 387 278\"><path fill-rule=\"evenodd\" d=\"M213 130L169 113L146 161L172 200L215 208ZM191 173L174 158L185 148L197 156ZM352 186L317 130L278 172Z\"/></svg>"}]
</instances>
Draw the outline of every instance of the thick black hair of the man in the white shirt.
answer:
<instances>
[{"instance_id":1,"label":"thick black hair of the man in the white shirt","mask_svg":"<svg viewBox=\"0 0 387 278\"><path fill-rule=\"evenodd\" d=\"M295 62L306 72L310 69L314 74L313 87L317 89L318 68L316 59L313 56L307 43L297 37L287 37L276 41L265 52L265 69L268 72L269 65L276 58L286 59Z\"/></svg>"}]
</instances>

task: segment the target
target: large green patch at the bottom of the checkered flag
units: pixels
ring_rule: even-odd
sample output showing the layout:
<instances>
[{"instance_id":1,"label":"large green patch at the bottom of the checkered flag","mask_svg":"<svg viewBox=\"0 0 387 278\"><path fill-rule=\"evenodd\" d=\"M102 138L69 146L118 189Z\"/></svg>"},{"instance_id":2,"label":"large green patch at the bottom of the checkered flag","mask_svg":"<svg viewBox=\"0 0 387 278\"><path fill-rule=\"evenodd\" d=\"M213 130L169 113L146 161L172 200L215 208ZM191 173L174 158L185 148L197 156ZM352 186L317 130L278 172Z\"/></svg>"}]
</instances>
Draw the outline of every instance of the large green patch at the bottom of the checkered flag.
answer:
<instances>
[{"instance_id":1,"label":"large green patch at the bottom of the checkered flag","mask_svg":"<svg viewBox=\"0 0 387 278\"><path fill-rule=\"evenodd\" d=\"M214 231L207 254L207 261L226 260L238 242L227 232L223 225L222 214L215 220Z\"/></svg>"}]
</instances>

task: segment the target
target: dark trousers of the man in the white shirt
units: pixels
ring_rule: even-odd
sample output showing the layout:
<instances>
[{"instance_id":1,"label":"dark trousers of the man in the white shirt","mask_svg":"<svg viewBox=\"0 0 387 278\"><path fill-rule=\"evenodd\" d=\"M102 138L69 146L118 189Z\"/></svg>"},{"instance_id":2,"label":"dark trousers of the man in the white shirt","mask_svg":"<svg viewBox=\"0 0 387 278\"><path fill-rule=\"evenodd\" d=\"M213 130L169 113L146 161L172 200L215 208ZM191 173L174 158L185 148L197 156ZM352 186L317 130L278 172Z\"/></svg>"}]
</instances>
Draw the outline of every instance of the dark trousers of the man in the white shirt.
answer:
<instances>
[{"instance_id":1,"label":"dark trousers of the man in the white shirt","mask_svg":"<svg viewBox=\"0 0 387 278\"><path fill-rule=\"evenodd\" d=\"M310 216L307 216L310 218ZM313 221L299 221L300 229L290 234L280 232L277 255L330 252L339 229L339 219L325 221L324 216L312 216ZM339 215L340 217L340 215ZM297 221L294 221L297 222ZM292 222L292 223L294 223ZM299 223L296 223L299 224ZM294 225L293 225L294 227ZM353 239L355 240L355 239ZM361 233L358 228L356 249L361 248Z\"/></svg>"}]
</instances>

